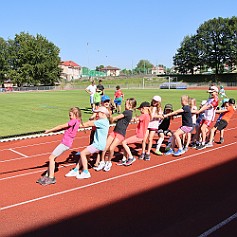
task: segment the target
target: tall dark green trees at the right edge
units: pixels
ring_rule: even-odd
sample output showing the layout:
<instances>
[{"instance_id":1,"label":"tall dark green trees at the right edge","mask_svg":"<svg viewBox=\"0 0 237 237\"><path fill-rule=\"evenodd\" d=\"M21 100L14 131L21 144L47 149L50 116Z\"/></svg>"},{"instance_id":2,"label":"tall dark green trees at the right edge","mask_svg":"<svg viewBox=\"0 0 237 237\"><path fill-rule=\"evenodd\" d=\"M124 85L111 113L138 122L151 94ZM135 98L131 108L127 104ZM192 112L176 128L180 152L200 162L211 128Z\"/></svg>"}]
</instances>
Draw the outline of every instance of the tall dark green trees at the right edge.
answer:
<instances>
[{"instance_id":1,"label":"tall dark green trees at the right edge","mask_svg":"<svg viewBox=\"0 0 237 237\"><path fill-rule=\"evenodd\" d=\"M186 36L173 57L178 72L194 73L210 68L215 74L237 65L237 17L204 22L195 35Z\"/></svg>"}]
</instances>

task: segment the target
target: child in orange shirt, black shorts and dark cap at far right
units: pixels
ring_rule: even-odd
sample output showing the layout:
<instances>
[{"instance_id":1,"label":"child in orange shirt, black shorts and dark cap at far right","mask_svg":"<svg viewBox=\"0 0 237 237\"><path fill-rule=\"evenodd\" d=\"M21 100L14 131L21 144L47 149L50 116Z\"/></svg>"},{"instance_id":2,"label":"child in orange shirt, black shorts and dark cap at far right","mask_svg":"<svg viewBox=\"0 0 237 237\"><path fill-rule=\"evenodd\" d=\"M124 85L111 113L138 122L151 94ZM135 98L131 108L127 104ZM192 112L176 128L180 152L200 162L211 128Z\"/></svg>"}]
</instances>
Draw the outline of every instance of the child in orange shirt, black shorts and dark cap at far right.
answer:
<instances>
[{"instance_id":1,"label":"child in orange shirt, black shorts and dark cap at far right","mask_svg":"<svg viewBox=\"0 0 237 237\"><path fill-rule=\"evenodd\" d=\"M220 142L224 142L224 129L227 127L231 117L235 113L235 99L231 98L226 103L226 107L220 110L216 110L216 113L221 113L221 119L217 120L214 127L210 131L210 139L209 142L206 144L206 147L212 147L213 146L213 139L215 136L216 130L220 131Z\"/></svg>"}]
</instances>

